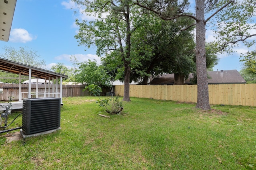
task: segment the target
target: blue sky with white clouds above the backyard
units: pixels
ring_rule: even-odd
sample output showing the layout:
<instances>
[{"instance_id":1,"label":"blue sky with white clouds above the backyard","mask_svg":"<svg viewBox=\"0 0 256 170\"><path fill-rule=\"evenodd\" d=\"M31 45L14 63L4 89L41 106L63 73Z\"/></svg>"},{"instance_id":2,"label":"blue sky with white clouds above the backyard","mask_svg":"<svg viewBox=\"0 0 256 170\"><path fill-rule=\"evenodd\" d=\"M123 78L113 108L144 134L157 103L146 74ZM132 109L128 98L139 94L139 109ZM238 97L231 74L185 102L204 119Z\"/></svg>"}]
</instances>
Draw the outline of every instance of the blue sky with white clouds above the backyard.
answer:
<instances>
[{"instance_id":1,"label":"blue sky with white clouds above the backyard","mask_svg":"<svg viewBox=\"0 0 256 170\"><path fill-rule=\"evenodd\" d=\"M4 46L16 49L28 47L37 51L46 61L47 68L56 63L72 67L71 55L76 56L80 62L88 59L100 62L95 55L96 47L78 47L74 35L79 28L74 22L76 18L90 20L91 17L79 12L75 15L75 9L70 0L17 0L10 39L8 42L0 41L0 53L4 53ZM212 39L212 32L207 30L206 41ZM241 70L239 56L240 52L245 50L246 48L239 47L233 55L220 55L219 64L214 67L214 71Z\"/></svg>"}]
</instances>

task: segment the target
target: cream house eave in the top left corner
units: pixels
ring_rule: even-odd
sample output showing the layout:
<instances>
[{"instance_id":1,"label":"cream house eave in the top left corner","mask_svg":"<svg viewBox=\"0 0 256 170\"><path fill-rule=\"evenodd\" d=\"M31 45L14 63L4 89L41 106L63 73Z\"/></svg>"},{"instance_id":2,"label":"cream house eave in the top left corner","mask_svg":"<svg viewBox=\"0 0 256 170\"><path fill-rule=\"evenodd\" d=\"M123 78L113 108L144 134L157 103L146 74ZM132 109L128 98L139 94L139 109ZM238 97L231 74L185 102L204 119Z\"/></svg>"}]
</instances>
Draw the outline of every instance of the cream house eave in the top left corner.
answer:
<instances>
[{"instance_id":1,"label":"cream house eave in the top left corner","mask_svg":"<svg viewBox=\"0 0 256 170\"><path fill-rule=\"evenodd\" d=\"M0 0L0 40L8 41L12 27L12 19L16 0Z\"/></svg>"}]
</instances>

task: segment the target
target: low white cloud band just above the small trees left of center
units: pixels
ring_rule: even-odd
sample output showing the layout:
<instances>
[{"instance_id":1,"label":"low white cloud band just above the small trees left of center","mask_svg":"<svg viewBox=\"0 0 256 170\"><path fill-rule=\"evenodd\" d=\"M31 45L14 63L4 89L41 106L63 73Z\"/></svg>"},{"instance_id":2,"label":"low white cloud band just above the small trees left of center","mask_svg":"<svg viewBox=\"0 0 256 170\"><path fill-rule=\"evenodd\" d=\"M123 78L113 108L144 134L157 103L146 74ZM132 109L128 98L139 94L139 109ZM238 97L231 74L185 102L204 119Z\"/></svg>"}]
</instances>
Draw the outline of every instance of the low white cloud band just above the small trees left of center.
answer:
<instances>
[{"instance_id":1,"label":"low white cloud band just above the small trees left of center","mask_svg":"<svg viewBox=\"0 0 256 170\"><path fill-rule=\"evenodd\" d=\"M91 61L96 60L98 64L100 64L100 62L101 62L100 57L98 57L97 55L93 55L93 54L74 54L74 55L62 54L62 55L55 57L54 59L70 62L70 57L72 57L72 56L75 56L76 59L78 60L78 62L85 62L88 60L91 60Z\"/></svg>"}]
</instances>

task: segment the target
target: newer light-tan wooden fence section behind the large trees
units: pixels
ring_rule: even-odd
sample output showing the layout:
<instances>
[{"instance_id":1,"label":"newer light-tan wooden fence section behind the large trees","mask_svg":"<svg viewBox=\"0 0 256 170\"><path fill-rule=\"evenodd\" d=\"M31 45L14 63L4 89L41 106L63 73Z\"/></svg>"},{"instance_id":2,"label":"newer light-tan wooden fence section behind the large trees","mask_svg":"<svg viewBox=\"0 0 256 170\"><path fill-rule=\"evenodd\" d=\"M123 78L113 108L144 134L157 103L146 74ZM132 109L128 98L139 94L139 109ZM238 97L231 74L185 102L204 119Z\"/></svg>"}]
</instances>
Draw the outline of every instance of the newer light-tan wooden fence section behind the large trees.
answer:
<instances>
[{"instance_id":1,"label":"newer light-tan wooden fence section behind the large trees","mask_svg":"<svg viewBox=\"0 0 256 170\"><path fill-rule=\"evenodd\" d=\"M209 84L210 104L256 106L256 84ZM124 96L124 85L115 93ZM130 97L197 102L197 85L130 85Z\"/></svg>"}]
</instances>

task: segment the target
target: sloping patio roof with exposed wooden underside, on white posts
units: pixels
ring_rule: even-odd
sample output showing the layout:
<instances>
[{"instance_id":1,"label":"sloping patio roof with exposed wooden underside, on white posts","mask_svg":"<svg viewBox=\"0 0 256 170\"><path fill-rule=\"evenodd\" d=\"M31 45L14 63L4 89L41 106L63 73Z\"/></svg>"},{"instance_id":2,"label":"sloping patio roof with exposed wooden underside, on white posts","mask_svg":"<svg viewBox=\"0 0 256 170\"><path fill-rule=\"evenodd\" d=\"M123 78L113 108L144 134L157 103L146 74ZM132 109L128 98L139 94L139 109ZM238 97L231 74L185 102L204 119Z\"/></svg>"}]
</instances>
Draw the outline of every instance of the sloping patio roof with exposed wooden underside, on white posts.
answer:
<instances>
[{"instance_id":1,"label":"sloping patio roof with exposed wooden underside, on white posts","mask_svg":"<svg viewBox=\"0 0 256 170\"><path fill-rule=\"evenodd\" d=\"M56 78L56 77L67 78L68 77L64 74L59 74L49 70L44 70L42 68L37 68L34 66L29 66L26 64L0 58L0 70L6 71L6 72L12 72L14 74L22 74L22 75L29 76L29 69L31 69L31 76L35 78L48 79L49 77L50 78Z\"/></svg>"}]
</instances>

